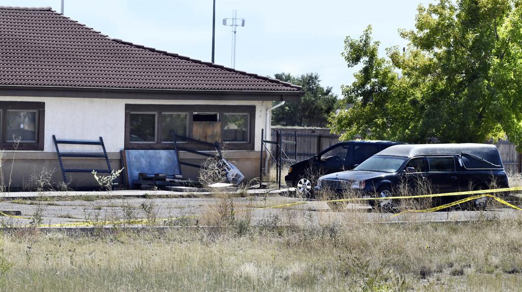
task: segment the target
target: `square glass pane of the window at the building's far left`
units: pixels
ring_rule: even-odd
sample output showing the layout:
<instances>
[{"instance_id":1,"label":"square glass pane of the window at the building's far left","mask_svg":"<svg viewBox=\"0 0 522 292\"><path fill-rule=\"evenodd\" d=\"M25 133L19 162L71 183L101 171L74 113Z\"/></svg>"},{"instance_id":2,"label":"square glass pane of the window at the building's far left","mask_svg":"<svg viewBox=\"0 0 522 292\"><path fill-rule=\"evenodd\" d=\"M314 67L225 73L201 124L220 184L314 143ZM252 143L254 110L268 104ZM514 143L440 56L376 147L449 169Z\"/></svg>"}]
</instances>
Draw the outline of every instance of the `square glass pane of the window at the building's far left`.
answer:
<instances>
[{"instance_id":1,"label":"square glass pane of the window at the building's far left","mask_svg":"<svg viewBox=\"0 0 522 292\"><path fill-rule=\"evenodd\" d=\"M37 112L7 111L7 141L36 142Z\"/></svg>"}]
</instances>

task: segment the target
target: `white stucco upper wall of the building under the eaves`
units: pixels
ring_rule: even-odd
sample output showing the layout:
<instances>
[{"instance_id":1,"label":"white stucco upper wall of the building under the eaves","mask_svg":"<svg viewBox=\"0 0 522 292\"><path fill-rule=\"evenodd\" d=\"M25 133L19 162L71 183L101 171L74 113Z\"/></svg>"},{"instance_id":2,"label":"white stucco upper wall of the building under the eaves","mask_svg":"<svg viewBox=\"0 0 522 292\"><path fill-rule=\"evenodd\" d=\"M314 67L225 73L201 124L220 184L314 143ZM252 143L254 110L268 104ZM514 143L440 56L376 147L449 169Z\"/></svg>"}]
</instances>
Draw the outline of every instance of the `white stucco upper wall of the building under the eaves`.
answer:
<instances>
[{"instance_id":1,"label":"white stucco upper wall of the building under the eaves","mask_svg":"<svg viewBox=\"0 0 522 292\"><path fill-rule=\"evenodd\" d=\"M56 97L0 97L0 101L45 102L44 152L55 152L52 135L59 139L97 140L103 137L108 152L118 152L124 147L125 104L211 104L256 106L255 150L260 149L261 129L266 124L266 109L269 101L231 100L134 100L99 98L56 98ZM82 150L89 150L81 146ZM61 148L62 150L62 148ZM67 148L64 150L73 150Z\"/></svg>"}]
</instances>

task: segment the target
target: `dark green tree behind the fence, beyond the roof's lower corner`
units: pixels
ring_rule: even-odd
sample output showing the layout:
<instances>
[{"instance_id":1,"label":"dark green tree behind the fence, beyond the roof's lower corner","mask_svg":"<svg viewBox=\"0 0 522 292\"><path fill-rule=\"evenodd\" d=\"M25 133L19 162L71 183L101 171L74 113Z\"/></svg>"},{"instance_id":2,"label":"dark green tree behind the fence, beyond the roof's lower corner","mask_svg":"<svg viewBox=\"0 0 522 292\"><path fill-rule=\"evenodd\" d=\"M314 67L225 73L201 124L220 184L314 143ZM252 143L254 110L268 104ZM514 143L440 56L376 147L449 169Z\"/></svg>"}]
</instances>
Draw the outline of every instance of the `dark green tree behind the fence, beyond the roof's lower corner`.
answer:
<instances>
[{"instance_id":1,"label":"dark green tree behind the fence, beyond the roof's lower corner","mask_svg":"<svg viewBox=\"0 0 522 292\"><path fill-rule=\"evenodd\" d=\"M305 92L299 101L286 102L272 112L272 124L283 126L325 126L328 115L338 106L337 96L331 87L322 87L319 75L307 73L292 76L287 73L275 75L276 79L302 86Z\"/></svg>"}]
</instances>

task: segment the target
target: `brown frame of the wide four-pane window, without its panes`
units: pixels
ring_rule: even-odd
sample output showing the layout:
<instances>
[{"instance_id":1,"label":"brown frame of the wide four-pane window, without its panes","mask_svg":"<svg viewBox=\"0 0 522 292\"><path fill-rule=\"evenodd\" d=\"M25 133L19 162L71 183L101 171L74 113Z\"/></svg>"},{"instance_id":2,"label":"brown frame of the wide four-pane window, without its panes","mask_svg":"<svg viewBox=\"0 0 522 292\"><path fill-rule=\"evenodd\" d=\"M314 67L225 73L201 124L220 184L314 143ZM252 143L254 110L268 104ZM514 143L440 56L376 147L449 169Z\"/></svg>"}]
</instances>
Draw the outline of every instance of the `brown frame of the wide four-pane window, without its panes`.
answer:
<instances>
[{"instance_id":1,"label":"brown frame of the wide four-pane window, without its panes","mask_svg":"<svg viewBox=\"0 0 522 292\"><path fill-rule=\"evenodd\" d=\"M129 118L131 112L145 112L145 113L157 113L157 125L156 125L156 143L129 143ZM254 134L255 134L255 113L256 106L223 106L223 105L212 105L212 104L137 104L127 103L125 104L125 149L174 149L174 143L172 142L161 142L161 114L163 113L179 113L187 114L187 136L192 138L193 136L193 113L217 113L218 121L222 122L222 116L224 113L230 114L248 114L248 142L230 142L228 143L227 150L254 150ZM223 138L223 125L221 124L221 139ZM182 142L180 142L182 143ZM192 142L183 142L190 146L190 149L194 150L213 150L212 147L207 145L195 144Z\"/></svg>"}]
</instances>

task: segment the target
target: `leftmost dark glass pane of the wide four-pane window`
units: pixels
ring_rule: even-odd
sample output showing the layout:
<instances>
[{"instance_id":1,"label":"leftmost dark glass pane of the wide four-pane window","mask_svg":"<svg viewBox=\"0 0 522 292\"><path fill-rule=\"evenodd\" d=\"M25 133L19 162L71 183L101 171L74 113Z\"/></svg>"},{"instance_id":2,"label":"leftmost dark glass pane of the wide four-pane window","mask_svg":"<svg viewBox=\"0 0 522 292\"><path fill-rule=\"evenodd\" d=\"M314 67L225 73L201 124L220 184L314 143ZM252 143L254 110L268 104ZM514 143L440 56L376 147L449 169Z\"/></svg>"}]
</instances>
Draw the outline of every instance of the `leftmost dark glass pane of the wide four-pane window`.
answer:
<instances>
[{"instance_id":1,"label":"leftmost dark glass pane of the wide four-pane window","mask_svg":"<svg viewBox=\"0 0 522 292\"><path fill-rule=\"evenodd\" d=\"M129 126L130 140L132 143L156 142L155 113L131 113Z\"/></svg>"}]
</instances>

